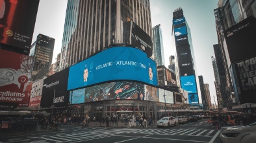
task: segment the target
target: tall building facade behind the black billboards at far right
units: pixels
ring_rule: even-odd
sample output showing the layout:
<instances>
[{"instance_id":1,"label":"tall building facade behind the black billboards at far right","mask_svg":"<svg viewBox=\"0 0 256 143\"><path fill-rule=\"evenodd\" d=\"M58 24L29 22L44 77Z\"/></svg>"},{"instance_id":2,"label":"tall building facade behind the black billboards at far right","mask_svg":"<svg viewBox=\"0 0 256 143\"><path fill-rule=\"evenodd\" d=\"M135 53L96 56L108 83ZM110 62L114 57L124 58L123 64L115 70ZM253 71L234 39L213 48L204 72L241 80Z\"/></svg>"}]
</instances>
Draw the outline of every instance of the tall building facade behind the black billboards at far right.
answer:
<instances>
[{"instance_id":1,"label":"tall building facade behind the black billboards at far right","mask_svg":"<svg viewBox=\"0 0 256 143\"><path fill-rule=\"evenodd\" d=\"M224 70L225 78L220 74L221 89L224 89L222 100L224 106L226 106L228 100L233 98L232 92L233 83L231 82L231 61L229 59L229 53L227 52L227 44L224 37L224 30L232 27L240 21L246 19L249 16L256 16L256 1L255 0L219 0L218 8L214 9L214 15L216 19L216 31L218 36L218 43L220 45L220 52L223 60L224 69L219 67L219 72ZM217 58L217 56L216 56ZM236 99L236 101L238 101Z\"/></svg>"}]
</instances>

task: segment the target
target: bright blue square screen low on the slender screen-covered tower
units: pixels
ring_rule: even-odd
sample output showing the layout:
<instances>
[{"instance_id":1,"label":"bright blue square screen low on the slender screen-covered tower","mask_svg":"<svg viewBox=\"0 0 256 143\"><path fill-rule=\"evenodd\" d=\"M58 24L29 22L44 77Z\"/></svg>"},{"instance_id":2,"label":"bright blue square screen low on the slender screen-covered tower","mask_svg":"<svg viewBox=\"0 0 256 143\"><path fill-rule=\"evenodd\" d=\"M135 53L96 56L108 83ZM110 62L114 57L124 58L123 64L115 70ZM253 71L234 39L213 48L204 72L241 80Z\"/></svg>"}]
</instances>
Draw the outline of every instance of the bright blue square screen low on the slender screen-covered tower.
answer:
<instances>
[{"instance_id":1,"label":"bright blue square screen low on the slender screen-covered tower","mask_svg":"<svg viewBox=\"0 0 256 143\"><path fill-rule=\"evenodd\" d=\"M190 93L196 93L195 76L181 76L181 88Z\"/></svg>"}]
</instances>

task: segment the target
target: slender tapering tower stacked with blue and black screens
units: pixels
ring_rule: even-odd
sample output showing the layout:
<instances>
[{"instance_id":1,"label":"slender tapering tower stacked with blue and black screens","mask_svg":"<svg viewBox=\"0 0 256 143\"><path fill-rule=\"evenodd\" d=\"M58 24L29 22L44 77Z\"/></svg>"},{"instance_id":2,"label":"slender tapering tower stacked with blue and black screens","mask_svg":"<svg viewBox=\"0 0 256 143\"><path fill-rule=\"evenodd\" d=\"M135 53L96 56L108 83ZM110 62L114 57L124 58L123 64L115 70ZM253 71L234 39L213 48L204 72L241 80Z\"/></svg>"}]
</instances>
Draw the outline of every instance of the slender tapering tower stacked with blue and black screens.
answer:
<instances>
[{"instance_id":1,"label":"slender tapering tower stacked with blue and black screens","mask_svg":"<svg viewBox=\"0 0 256 143\"><path fill-rule=\"evenodd\" d=\"M173 12L173 31L181 88L188 91L190 105L202 106L191 32L182 8Z\"/></svg>"}]
</instances>

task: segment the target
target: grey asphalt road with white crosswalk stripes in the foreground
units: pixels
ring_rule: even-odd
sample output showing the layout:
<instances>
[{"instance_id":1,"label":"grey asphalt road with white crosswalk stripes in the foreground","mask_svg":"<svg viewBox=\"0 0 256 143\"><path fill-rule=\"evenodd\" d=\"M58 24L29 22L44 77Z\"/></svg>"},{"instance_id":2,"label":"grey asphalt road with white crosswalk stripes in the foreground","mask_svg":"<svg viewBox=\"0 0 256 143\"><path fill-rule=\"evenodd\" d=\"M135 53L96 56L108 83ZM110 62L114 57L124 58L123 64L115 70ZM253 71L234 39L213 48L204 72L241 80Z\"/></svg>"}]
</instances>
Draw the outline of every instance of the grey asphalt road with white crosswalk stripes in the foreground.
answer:
<instances>
[{"instance_id":1,"label":"grey asphalt road with white crosswalk stripes in the foreground","mask_svg":"<svg viewBox=\"0 0 256 143\"><path fill-rule=\"evenodd\" d=\"M60 130L45 130L34 133L9 133L0 134L0 142L103 142L103 143L164 143L164 142L210 142L219 143L219 130L207 123L207 120L198 120L188 124L157 128L127 128L99 127L92 124L89 128L81 129L81 126L66 125Z\"/></svg>"}]
</instances>

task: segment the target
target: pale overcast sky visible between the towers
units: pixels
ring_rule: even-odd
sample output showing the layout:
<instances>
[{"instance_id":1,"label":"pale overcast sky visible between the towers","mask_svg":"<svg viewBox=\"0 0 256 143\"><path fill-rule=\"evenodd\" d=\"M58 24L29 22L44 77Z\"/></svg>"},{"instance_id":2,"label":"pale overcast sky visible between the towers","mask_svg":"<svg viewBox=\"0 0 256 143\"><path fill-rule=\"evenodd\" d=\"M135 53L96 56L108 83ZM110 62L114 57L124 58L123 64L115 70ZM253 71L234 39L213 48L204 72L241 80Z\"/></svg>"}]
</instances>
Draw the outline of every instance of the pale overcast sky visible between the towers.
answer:
<instances>
[{"instance_id":1,"label":"pale overcast sky visible between the towers","mask_svg":"<svg viewBox=\"0 0 256 143\"><path fill-rule=\"evenodd\" d=\"M60 53L66 16L67 0L40 0L32 42L38 34L55 38L53 62ZM211 102L214 104L216 91L211 56L213 45L218 43L213 10L218 8L218 0L150 0L152 27L161 25L164 43L165 66L168 67L170 55L174 53L172 41L172 13L183 8L184 16L190 27L198 76L209 83ZM215 102L216 102L215 101ZM217 102L216 102L217 103Z\"/></svg>"}]
</instances>

